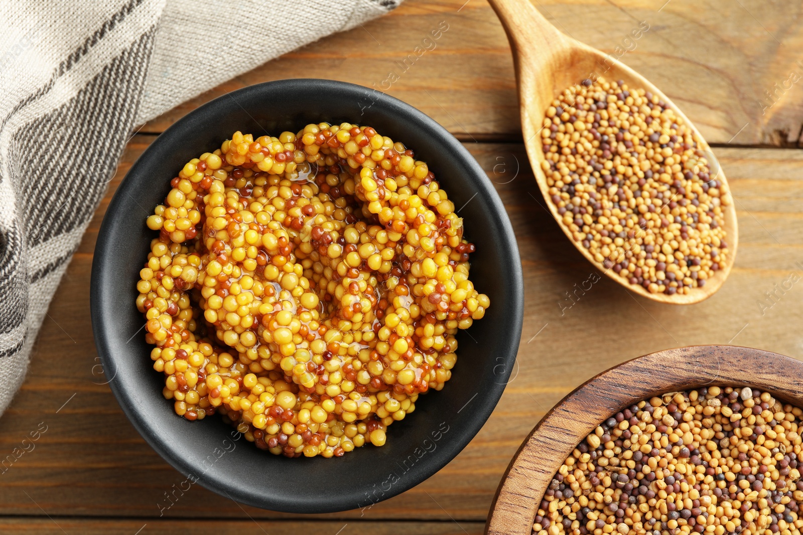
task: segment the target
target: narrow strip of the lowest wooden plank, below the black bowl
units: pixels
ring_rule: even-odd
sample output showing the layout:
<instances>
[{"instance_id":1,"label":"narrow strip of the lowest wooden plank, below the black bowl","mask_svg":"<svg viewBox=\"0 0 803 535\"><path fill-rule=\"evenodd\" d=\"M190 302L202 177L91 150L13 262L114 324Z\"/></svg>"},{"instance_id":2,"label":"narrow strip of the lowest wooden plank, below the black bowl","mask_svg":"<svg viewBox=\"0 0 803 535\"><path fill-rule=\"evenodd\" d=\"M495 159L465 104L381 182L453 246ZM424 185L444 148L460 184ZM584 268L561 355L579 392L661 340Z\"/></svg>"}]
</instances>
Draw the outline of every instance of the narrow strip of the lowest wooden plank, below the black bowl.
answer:
<instances>
[{"instance_id":1,"label":"narrow strip of the lowest wooden plank, below the black bowl","mask_svg":"<svg viewBox=\"0 0 803 535\"><path fill-rule=\"evenodd\" d=\"M241 516L245 517L243 513ZM349 527L350 526L350 527ZM349 533L357 526L343 521L254 521L243 519L226 520L167 520L149 518L147 522L130 519L92 519L74 517L52 518L0 518L2 533L20 535L239 535L240 533L271 533L271 535L298 535L298 533L323 533L337 535ZM479 535L483 533L482 522L360 522L361 533L407 533L409 535Z\"/></svg>"}]
</instances>

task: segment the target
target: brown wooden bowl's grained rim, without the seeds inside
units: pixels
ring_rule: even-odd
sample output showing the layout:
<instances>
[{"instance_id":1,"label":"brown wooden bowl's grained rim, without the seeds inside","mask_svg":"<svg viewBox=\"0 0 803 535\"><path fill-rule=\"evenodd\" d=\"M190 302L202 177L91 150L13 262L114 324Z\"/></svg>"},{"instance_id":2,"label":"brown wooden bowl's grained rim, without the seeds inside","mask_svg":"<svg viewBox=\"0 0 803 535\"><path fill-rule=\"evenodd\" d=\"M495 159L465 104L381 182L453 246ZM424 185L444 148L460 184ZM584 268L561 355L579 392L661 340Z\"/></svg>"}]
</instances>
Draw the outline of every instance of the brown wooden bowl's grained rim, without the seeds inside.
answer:
<instances>
[{"instance_id":1,"label":"brown wooden bowl's grained rim, without the seeds inside","mask_svg":"<svg viewBox=\"0 0 803 535\"><path fill-rule=\"evenodd\" d=\"M603 371L567 395L521 444L496 491L485 533L530 535L552 476L594 428L654 395L697 387L757 387L803 407L803 363L736 346L658 351Z\"/></svg>"}]
</instances>

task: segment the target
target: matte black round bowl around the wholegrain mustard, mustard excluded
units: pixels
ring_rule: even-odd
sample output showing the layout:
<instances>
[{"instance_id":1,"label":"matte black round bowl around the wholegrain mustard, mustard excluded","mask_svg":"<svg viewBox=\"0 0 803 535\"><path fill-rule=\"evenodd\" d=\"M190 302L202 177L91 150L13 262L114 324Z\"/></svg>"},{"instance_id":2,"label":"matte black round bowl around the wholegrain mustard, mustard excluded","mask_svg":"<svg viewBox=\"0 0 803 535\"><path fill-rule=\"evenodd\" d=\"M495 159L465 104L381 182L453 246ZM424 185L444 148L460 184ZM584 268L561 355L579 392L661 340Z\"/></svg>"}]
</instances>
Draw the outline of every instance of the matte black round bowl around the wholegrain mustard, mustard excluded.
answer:
<instances>
[{"instance_id":1,"label":"matte black round bowl around the wholegrain mustard, mustard excluded","mask_svg":"<svg viewBox=\"0 0 803 535\"><path fill-rule=\"evenodd\" d=\"M161 395L141 331L135 283L155 236L145 217L191 158L237 130L278 136L308 123L369 124L429 164L477 245L471 280L491 298L482 320L458 334L458 364L442 391L389 426L387 444L340 458L287 459L263 452L218 416L190 422ZM464 206L463 206L464 205ZM522 322L521 263L491 181L463 145L421 111L378 91L320 79L288 79L233 91L191 111L140 156L100 227L92 263L92 329L109 385L137 431L182 474L234 500L287 513L373 505L438 472L479 432L502 395Z\"/></svg>"}]
</instances>

